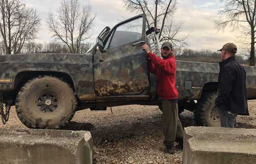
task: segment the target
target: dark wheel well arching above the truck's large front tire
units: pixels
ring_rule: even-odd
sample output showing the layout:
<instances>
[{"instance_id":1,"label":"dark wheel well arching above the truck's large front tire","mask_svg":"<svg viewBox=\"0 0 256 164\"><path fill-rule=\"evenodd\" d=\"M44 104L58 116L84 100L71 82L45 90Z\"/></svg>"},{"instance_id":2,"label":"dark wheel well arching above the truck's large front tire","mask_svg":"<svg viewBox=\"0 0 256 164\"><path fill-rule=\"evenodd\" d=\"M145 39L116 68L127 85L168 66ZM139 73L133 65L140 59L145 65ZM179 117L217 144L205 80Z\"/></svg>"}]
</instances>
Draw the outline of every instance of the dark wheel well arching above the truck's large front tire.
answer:
<instances>
[{"instance_id":1,"label":"dark wheel well arching above the truck's large front tire","mask_svg":"<svg viewBox=\"0 0 256 164\"><path fill-rule=\"evenodd\" d=\"M38 76L42 75L52 75L58 78L63 79L67 83L70 84L70 86L75 90L74 83L70 75L67 73L63 72L51 72L51 71L26 71L26 72L20 72L16 75L15 77L15 82L14 82L14 88L16 92L20 90L20 88L30 79L36 78Z\"/></svg>"}]
</instances>

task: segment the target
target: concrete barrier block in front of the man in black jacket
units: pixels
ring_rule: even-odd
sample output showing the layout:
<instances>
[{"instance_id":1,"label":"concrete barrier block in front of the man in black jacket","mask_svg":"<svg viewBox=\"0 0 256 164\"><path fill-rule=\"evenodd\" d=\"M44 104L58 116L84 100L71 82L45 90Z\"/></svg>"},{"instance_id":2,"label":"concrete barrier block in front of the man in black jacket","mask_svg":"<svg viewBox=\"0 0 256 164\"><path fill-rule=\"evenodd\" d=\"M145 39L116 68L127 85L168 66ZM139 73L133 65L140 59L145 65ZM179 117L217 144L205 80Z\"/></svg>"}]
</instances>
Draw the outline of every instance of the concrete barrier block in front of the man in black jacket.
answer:
<instances>
[{"instance_id":1,"label":"concrete barrier block in front of the man in black jacket","mask_svg":"<svg viewBox=\"0 0 256 164\"><path fill-rule=\"evenodd\" d=\"M256 164L256 129L186 127L183 164Z\"/></svg>"}]
</instances>

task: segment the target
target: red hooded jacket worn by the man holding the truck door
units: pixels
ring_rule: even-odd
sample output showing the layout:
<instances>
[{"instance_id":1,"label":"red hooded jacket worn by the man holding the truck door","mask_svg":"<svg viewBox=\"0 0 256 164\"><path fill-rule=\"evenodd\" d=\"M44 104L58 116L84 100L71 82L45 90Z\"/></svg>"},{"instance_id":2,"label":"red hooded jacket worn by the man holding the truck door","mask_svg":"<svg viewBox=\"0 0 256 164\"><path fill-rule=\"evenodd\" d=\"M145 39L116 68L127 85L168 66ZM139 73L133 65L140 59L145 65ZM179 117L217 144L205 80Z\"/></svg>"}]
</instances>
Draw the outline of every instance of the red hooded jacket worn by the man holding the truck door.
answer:
<instances>
[{"instance_id":1,"label":"red hooded jacket worn by the man holding the truck door","mask_svg":"<svg viewBox=\"0 0 256 164\"><path fill-rule=\"evenodd\" d=\"M177 99L176 59L174 55L161 59L149 52L147 57L151 61L148 62L148 71L157 76L157 95L163 99Z\"/></svg>"}]
</instances>

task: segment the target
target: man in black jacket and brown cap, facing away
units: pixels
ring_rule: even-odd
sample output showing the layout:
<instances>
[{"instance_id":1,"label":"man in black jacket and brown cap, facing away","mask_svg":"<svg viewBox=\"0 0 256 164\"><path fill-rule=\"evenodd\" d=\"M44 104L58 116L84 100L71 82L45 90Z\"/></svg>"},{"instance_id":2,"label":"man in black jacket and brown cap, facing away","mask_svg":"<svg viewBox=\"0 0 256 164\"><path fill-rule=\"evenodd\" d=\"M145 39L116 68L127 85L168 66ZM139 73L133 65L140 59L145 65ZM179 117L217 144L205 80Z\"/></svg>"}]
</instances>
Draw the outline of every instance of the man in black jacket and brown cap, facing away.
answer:
<instances>
[{"instance_id":1,"label":"man in black jacket and brown cap, facing away","mask_svg":"<svg viewBox=\"0 0 256 164\"><path fill-rule=\"evenodd\" d=\"M215 104L219 109L221 127L235 127L236 116L248 112L246 72L237 63L234 43L225 44L220 50L221 62L218 77L218 96Z\"/></svg>"}]
</instances>

